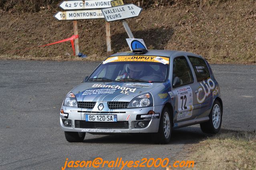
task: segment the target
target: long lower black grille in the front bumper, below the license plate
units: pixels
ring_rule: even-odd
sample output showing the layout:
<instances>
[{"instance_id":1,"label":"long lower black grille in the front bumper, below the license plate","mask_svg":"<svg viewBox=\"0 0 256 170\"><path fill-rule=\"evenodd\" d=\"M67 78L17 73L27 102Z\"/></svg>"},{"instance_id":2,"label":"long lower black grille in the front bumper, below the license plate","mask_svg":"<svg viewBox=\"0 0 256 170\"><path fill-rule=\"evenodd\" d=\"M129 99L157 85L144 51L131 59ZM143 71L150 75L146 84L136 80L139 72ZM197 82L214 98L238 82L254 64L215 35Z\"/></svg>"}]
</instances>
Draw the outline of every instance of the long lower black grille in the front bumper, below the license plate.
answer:
<instances>
[{"instance_id":1,"label":"long lower black grille in the front bumper, below the license plate","mask_svg":"<svg viewBox=\"0 0 256 170\"><path fill-rule=\"evenodd\" d=\"M127 129L129 128L129 123L128 121L118 121L118 122L75 121L75 128Z\"/></svg>"}]
</instances>

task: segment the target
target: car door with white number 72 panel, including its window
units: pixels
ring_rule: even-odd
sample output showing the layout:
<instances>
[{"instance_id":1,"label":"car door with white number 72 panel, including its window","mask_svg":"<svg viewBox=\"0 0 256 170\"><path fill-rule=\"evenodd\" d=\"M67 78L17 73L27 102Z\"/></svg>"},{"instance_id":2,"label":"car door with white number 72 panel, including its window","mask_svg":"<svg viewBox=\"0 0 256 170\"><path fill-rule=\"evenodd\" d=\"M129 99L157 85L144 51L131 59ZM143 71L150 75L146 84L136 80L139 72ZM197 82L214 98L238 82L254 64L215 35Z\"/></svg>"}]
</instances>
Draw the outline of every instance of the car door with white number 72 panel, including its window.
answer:
<instances>
[{"instance_id":1,"label":"car door with white number 72 panel, including its window","mask_svg":"<svg viewBox=\"0 0 256 170\"><path fill-rule=\"evenodd\" d=\"M179 79L179 83L175 83L177 79ZM187 57L175 57L173 59L171 90L175 99L174 122L196 118L200 108L200 105L196 102L196 90L198 90L198 83L194 81L194 74L191 71Z\"/></svg>"}]
</instances>

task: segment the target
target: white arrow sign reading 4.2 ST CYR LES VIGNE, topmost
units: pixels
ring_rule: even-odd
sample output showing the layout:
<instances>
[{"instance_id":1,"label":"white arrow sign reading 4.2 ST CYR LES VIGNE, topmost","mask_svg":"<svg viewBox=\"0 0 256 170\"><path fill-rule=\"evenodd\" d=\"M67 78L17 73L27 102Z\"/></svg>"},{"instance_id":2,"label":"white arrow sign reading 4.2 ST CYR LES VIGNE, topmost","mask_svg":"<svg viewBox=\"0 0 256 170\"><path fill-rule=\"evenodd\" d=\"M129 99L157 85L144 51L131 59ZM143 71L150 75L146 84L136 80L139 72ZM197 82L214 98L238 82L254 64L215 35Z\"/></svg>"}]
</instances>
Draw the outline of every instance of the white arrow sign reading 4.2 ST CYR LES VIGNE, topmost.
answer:
<instances>
[{"instance_id":1,"label":"white arrow sign reading 4.2 ST CYR LES VIGNE, topmost","mask_svg":"<svg viewBox=\"0 0 256 170\"><path fill-rule=\"evenodd\" d=\"M85 10L111 7L111 0L65 0L59 5L63 10Z\"/></svg>"}]
</instances>

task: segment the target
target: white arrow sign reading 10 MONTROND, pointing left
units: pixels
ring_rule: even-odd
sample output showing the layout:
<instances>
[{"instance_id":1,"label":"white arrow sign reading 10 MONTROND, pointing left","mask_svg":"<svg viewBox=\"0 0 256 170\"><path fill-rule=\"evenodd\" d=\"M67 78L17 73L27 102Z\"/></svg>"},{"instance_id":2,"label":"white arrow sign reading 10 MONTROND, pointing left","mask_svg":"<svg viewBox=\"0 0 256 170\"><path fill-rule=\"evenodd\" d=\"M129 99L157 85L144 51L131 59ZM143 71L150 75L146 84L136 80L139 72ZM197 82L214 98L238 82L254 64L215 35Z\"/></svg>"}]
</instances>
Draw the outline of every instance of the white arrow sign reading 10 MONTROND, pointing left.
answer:
<instances>
[{"instance_id":1,"label":"white arrow sign reading 10 MONTROND, pointing left","mask_svg":"<svg viewBox=\"0 0 256 170\"><path fill-rule=\"evenodd\" d=\"M101 10L77 10L57 12L54 17L57 20L83 20L104 18Z\"/></svg>"}]
</instances>

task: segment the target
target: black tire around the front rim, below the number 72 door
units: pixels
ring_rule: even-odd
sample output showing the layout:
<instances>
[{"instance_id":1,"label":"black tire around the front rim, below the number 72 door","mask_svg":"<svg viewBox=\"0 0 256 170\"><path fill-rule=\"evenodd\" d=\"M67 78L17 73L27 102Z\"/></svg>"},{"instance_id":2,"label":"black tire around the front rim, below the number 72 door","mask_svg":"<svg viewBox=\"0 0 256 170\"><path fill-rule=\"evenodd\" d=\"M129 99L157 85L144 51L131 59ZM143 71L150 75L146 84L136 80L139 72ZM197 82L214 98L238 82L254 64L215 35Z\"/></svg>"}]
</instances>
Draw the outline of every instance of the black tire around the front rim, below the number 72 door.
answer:
<instances>
[{"instance_id":1,"label":"black tire around the front rim, below the number 72 door","mask_svg":"<svg viewBox=\"0 0 256 170\"><path fill-rule=\"evenodd\" d=\"M165 113L167 113L167 115L169 117L169 135L167 134L168 137L165 136L165 131L164 131ZM165 107L165 108L163 108L163 111L161 113L158 132L152 134L152 140L156 144L167 144L170 142L170 139L171 139L171 114L170 114L169 109L167 107Z\"/></svg>"}]
</instances>

